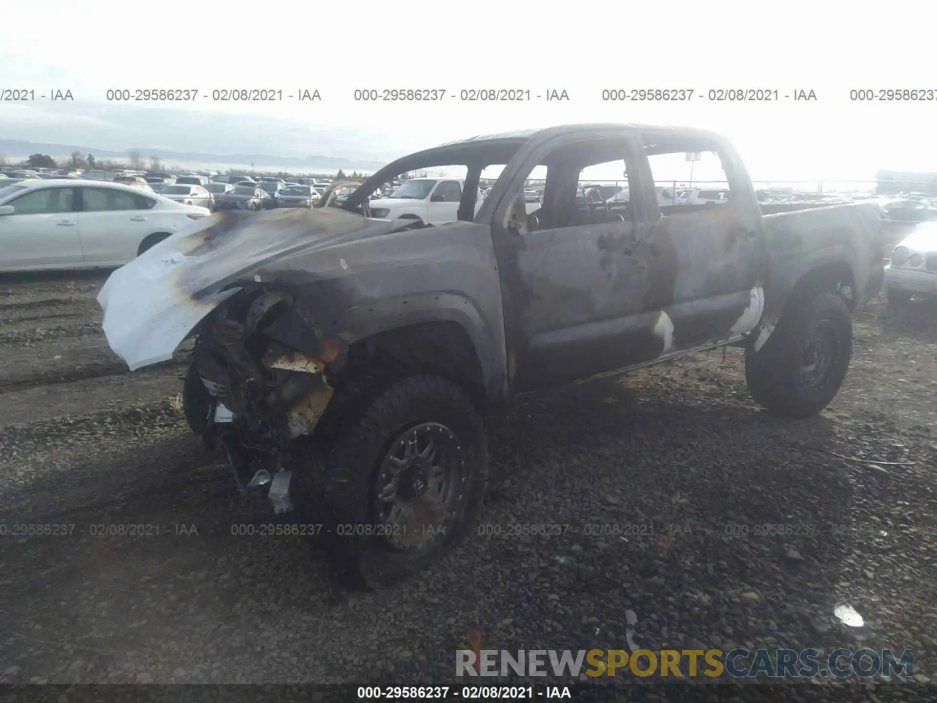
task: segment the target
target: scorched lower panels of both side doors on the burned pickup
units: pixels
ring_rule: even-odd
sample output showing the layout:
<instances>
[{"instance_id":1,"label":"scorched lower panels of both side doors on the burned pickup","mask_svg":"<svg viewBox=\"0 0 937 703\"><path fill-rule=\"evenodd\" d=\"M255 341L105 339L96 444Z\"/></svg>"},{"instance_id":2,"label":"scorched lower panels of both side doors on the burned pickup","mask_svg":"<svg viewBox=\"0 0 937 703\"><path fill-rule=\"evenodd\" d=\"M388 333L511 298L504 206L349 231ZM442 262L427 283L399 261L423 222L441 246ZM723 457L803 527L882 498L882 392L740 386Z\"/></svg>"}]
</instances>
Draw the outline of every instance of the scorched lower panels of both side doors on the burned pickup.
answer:
<instances>
[{"instance_id":1,"label":"scorched lower panels of both side doors on the burned pickup","mask_svg":"<svg viewBox=\"0 0 937 703\"><path fill-rule=\"evenodd\" d=\"M737 236L736 219L725 206L653 223L515 235L513 273L521 291L515 299L524 301L516 389L538 390L732 337L758 285L757 249L753 239ZM673 325L670 347L658 326L661 313Z\"/></svg>"}]
</instances>

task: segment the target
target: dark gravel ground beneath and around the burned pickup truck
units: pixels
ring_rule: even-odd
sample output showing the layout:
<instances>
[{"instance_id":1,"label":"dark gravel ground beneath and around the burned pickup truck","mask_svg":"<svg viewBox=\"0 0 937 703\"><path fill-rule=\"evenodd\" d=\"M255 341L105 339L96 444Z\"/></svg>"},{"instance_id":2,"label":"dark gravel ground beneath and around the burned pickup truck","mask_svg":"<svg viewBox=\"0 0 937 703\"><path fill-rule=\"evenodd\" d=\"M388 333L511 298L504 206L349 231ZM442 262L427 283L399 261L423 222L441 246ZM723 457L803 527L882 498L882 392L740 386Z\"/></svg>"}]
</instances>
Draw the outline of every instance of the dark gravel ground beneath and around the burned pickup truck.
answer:
<instances>
[{"instance_id":1,"label":"dark gravel ground beneath and around the burned pickup truck","mask_svg":"<svg viewBox=\"0 0 937 703\"><path fill-rule=\"evenodd\" d=\"M232 534L266 507L188 432L185 351L132 374L110 352L103 279L0 280L0 681L453 681L472 632L628 649L629 610L651 650L915 648L918 681L937 677L932 307L873 301L840 396L807 421L759 411L736 350L515 405L487 421L480 533L350 593L313 540ZM143 533L108 534L126 525ZM848 698L911 695L885 685Z\"/></svg>"}]
</instances>

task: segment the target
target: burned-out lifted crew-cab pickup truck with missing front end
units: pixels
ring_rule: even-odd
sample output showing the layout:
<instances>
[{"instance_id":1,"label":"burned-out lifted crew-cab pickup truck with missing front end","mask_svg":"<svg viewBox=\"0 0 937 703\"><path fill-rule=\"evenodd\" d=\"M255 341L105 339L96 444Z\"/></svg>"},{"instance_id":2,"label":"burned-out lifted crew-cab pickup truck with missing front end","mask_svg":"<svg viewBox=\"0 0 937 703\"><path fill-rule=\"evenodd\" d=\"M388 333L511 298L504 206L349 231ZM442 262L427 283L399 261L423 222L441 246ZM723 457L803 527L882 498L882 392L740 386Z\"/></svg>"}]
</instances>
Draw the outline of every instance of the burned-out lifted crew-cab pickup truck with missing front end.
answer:
<instances>
[{"instance_id":1,"label":"burned-out lifted crew-cab pickup truck with missing front end","mask_svg":"<svg viewBox=\"0 0 937 703\"><path fill-rule=\"evenodd\" d=\"M712 155L727 202L659 202L654 164L684 153ZM465 172L457 221L370 217L380 185L442 166ZM627 197L580 193L597 167L624 173ZM528 213L533 178L543 202ZM195 337L189 425L277 513L338 526L333 553L373 584L438 559L471 525L486 406L733 345L757 403L809 416L846 374L851 309L882 284L878 208L764 214L733 147L697 129L476 137L332 201L203 218L98 300L132 369Z\"/></svg>"}]
</instances>

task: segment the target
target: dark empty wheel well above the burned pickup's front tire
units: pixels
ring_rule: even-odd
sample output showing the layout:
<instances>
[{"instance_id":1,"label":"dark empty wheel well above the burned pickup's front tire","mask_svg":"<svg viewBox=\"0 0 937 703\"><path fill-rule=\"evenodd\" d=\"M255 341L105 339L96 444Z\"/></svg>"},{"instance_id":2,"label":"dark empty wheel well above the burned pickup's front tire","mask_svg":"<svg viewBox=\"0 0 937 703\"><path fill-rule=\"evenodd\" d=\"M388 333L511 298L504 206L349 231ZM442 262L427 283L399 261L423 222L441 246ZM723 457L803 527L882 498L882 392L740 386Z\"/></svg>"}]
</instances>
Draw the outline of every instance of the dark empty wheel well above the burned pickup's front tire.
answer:
<instances>
[{"instance_id":1,"label":"dark empty wheel well above the burned pickup's front tire","mask_svg":"<svg viewBox=\"0 0 937 703\"><path fill-rule=\"evenodd\" d=\"M418 322L364 337L350 345L348 360L343 377L433 374L461 386L478 406L487 396L475 345L458 322Z\"/></svg>"}]
</instances>

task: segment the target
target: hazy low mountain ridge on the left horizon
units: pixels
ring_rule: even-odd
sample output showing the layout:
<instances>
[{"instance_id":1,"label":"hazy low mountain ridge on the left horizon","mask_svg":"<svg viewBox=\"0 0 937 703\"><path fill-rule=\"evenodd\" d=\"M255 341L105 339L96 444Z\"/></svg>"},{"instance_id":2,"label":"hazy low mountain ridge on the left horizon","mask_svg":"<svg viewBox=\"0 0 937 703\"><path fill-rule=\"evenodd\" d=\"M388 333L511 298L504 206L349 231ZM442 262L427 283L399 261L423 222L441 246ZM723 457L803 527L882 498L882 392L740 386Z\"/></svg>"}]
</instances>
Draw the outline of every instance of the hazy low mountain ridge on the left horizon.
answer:
<instances>
[{"instance_id":1,"label":"hazy low mountain ridge on the left horizon","mask_svg":"<svg viewBox=\"0 0 937 703\"><path fill-rule=\"evenodd\" d=\"M90 146L77 146L75 144L51 144L45 142L23 142L22 140L0 139L0 155L5 157L26 157L31 154L47 154L50 157L59 160L67 158L72 152L82 152L82 156L88 153L96 158L117 159L127 158L127 153L136 151L144 161L150 157L158 157L164 163L172 161L185 161L216 163L216 164L250 164L256 163L264 166L280 166L303 169L353 169L356 171L377 171L384 166L383 161L354 160L341 157L275 157L267 154L198 154L181 151L166 151L165 149L144 149L132 148L126 151L109 151L107 149L95 149Z\"/></svg>"}]
</instances>

